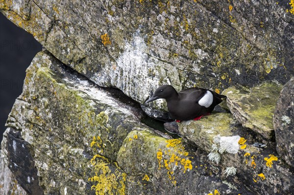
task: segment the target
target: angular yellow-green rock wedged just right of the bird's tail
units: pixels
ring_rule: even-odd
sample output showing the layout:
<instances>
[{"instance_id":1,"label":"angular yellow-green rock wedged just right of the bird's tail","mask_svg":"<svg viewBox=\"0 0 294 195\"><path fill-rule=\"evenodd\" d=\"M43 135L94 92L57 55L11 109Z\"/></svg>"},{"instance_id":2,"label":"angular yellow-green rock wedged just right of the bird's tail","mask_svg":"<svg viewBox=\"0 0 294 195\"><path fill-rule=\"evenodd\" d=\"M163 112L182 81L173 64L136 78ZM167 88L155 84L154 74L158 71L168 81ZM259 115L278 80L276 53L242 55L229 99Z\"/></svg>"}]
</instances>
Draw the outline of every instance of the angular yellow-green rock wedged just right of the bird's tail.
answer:
<instances>
[{"instance_id":1,"label":"angular yellow-green rock wedged just right of the bird's tail","mask_svg":"<svg viewBox=\"0 0 294 195\"><path fill-rule=\"evenodd\" d=\"M266 139L274 135L272 116L282 85L265 82L252 88L229 87L223 91L227 106L243 127Z\"/></svg>"}]
</instances>

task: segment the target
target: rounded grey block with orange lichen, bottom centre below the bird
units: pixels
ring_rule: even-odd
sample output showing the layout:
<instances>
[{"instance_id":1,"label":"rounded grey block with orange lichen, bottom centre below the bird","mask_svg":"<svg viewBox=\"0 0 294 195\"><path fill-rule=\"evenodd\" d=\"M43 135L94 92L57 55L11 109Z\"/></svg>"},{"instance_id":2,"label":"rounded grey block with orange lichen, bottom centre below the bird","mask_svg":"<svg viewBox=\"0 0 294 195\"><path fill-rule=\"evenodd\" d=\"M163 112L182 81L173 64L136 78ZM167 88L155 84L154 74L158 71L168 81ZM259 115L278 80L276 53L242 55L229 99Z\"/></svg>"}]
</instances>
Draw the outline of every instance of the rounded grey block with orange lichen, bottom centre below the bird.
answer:
<instances>
[{"instance_id":1,"label":"rounded grey block with orange lichen, bottom centre below the bird","mask_svg":"<svg viewBox=\"0 0 294 195\"><path fill-rule=\"evenodd\" d=\"M232 188L235 184L231 179L220 180L215 167L206 161L206 154L194 151L186 150L181 138L168 140L148 130L134 130L123 142L118 164L130 175L128 185L136 195L254 194L239 184L238 190ZM136 180L145 181L145 188L136 185Z\"/></svg>"}]
</instances>

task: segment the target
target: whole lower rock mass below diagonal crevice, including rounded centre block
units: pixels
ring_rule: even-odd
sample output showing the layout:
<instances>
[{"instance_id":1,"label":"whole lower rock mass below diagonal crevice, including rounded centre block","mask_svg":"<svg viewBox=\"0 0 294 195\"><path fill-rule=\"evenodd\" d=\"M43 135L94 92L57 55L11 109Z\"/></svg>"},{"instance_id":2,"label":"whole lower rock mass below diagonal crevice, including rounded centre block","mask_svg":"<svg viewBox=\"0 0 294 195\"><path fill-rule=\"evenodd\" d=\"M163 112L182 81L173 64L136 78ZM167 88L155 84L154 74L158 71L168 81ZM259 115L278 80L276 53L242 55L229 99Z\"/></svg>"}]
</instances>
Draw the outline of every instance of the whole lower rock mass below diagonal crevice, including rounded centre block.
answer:
<instances>
[{"instance_id":1,"label":"whole lower rock mass below diagonal crevice, including rounded centre block","mask_svg":"<svg viewBox=\"0 0 294 195\"><path fill-rule=\"evenodd\" d=\"M7 120L1 172L8 168L28 195L254 194L215 173L207 153L154 133L132 110L42 51ZM4 185L0 193L9 195L13 186Z\"/></svg>"}]
</instances>

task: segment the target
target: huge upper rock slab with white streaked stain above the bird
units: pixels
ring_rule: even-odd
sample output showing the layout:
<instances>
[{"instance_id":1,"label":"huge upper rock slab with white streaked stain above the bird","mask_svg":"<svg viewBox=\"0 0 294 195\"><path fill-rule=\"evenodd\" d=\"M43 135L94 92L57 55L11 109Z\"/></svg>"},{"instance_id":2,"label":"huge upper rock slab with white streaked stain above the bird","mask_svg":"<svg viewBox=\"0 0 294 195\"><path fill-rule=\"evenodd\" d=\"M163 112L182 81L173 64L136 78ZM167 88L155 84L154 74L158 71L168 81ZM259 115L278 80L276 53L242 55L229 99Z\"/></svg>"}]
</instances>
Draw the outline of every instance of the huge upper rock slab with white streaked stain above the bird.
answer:
<instances>
[{"instance_id":1,"label":"huge upper rock slab with white streaked stain above the bird","mask_svg":"<svg viewBox=\"0 0 294 195\"><path fill-rule=\"evenodd\" d=\"M161 84L177 90L285 84L294 75L291 6L287 0L2 0L0 11L64 64L144 104Z\"/></svg>"}]
</instances>

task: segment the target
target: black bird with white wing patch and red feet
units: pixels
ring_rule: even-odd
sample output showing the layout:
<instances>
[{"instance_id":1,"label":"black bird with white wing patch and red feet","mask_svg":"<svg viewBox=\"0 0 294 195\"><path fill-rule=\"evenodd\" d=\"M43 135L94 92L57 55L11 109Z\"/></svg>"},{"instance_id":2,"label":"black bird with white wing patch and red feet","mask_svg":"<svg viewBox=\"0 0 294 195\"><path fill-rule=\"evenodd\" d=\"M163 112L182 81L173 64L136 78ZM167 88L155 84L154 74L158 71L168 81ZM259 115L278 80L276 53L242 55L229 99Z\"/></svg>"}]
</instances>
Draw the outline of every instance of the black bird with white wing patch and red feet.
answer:
<instances>
[{"instance_id":1,"label":"black bird with white wing patch and red feet","mask_svg":"<svg viewBox=\"0 0 294 195\"><path fill-rule=\"evenodd\" d=\"M192 119L199 120L203 116L209 115L215 106L222 102L221 98L225 97L225 95L199 87L177 92L171 85L162 85L155 90L146 104L157 99L165 99L172 119L181 122Z\"/></svg>"}]
</instances>

